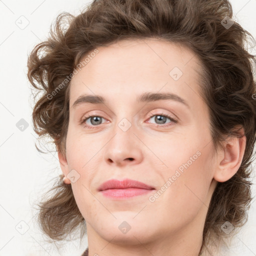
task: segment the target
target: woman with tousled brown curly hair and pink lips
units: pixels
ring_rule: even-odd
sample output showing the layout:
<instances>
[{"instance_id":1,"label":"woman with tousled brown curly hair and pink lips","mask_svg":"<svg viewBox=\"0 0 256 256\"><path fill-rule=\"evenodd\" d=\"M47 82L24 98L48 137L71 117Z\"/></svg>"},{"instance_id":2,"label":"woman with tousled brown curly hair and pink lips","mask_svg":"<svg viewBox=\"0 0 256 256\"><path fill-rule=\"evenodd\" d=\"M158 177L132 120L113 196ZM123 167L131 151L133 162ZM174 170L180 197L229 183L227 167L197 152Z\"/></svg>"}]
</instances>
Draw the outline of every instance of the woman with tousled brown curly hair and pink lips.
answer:
<instances>
[{"instance_id":1,"label":"woman with tousled brown curly hair and pink lips","mask_svg":"<svg viewBox=\"0 0 256 256\"><path fill-rule=\"evenodd\" d=\"M83 255L216 255L245 223L255 58L231 17L227 0L94 0L57 17L28 58L34 130L63 173L39 204L52 240L80 228Z\"/></svg>"}]
</instances>

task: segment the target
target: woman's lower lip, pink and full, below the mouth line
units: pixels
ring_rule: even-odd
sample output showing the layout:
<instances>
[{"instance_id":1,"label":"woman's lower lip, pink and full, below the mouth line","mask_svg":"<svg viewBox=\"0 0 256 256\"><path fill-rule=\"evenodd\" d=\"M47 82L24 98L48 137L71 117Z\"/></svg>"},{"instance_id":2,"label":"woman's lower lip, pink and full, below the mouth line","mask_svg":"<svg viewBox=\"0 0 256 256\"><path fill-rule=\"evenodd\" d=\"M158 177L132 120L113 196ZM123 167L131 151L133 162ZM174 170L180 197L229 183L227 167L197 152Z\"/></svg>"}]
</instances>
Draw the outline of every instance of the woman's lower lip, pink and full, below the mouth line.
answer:
<instances>
[{"instance_id":1,"label":"woman's lower lip, pink and full, below the mouth line","mask_svg":"<svg viewBox=\"0 0 256 256\"><path fill-rule=\"evenodd\" d=\"M146 194L154 189L143 189L143 188L122 188L122 189L106 189L100 191L104 196L111 198L127 198L136 195Z\"/></svg>"}]
</instances>

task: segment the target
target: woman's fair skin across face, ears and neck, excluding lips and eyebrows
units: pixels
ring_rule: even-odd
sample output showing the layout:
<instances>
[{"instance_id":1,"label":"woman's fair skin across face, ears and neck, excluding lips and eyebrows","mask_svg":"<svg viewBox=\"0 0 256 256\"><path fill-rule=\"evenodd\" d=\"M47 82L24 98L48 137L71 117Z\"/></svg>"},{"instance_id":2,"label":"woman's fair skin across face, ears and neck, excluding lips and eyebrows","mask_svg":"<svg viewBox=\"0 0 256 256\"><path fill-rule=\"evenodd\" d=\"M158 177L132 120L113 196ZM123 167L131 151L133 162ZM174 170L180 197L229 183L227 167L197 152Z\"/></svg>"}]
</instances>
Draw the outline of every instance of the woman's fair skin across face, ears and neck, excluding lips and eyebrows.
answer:
<instances>
[{"instance_id":1,"label":"woman's fair skin across face, ears and neck, excluding lips and eyebrows","mask_svg":"<svg viewBox=\"0 0 256 256\"><path fill-rule=\"evenodd\" d=\"M217 181L238 170L246 139L228 137L213 153L208 108L199 96L200 63L189 49L153 39L97 49L71 80L66 155L58 153L63 174L75 169L80 175L66 183L86 220L89 256L196 256L211 195ZM183 72L178 80L169 75L173 67ZM137 103L144 92L175 93L189 107L170 99ZM84 93L101 95L106 103L72 107ZM79 121L87 114L102 119L95 124L89 118L91 128L84 127ZM161 124L156 116L164 114L178 122L166 117ZM131 124L126 131L118 126L123 118ZM166 188L168 178L196 152L200 155ZM107 198L97 188L111 178L139 180L155 190ZM164 184L165 191L150 201ZM118 228L123 221L131 227L126 233Z\"/></svg>"}]
</instances>

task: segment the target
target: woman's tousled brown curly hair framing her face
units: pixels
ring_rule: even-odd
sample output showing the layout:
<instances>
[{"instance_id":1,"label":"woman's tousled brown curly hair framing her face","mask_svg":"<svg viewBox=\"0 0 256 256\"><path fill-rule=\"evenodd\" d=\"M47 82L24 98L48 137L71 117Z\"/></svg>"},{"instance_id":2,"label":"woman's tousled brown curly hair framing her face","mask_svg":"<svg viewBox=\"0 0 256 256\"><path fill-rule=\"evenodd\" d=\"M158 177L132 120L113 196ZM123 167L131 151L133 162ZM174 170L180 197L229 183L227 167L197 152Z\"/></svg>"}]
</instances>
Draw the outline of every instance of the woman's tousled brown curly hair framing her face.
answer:
<instances>
[{"instance_id":1,"label":"woman's tousled brown curly hair framing her face","mask_svg":"<svg viewBox=\"0 0 256 256\"><path fill-rule=\"evenodd\" d=\"M32 49L27 61L32 88L42 92L32 112L34 131L39 138L48 135L56 150L65 156L70 88L67 77L86 54L98 46L138 38L178 43L194 52L203 64L201 95L210 111L214 148L217 150L227 136L240 136L233 129L236 125L244 128L246 136L238 171L229 180L218 182L213 192L201 251L209 245L209 237L219 241L230 237L220 228L225 221L235 228L246 222L252 199L256 58L245 45L255 41L236 22L224 27L223 20L232 15L228 0L93 0L77 16L59 14L47 40ZM60 175L49 191L51 197L46 193L38 204L38 222L52 240L63 239L79 225L80 237L86 232L71 185L62 183L61 178Z\"/></svg>"}]
</instances>

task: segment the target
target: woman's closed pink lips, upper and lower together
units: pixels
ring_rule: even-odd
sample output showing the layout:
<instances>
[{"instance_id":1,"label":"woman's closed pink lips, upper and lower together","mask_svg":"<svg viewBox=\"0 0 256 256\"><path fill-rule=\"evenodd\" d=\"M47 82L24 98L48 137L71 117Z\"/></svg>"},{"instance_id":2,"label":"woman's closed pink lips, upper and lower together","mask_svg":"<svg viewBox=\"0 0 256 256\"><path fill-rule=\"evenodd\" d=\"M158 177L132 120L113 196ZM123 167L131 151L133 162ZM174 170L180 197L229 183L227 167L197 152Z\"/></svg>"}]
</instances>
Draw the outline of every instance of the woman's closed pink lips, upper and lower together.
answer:
<instances>
[{"instance_id":1,"label":"woman's closed pink lips, upper and lower together","mask_svg":"<svg viewBox=\"0 0 256 256\"><path fill-rule=\"evenodd\" d=\"M98 191L104 196L111 198L126 198L145 194L154 189L152 186L132 179L110 179L102 183Z\"/></svg>"}]
</instances>

